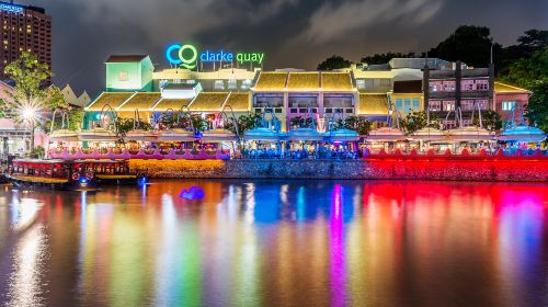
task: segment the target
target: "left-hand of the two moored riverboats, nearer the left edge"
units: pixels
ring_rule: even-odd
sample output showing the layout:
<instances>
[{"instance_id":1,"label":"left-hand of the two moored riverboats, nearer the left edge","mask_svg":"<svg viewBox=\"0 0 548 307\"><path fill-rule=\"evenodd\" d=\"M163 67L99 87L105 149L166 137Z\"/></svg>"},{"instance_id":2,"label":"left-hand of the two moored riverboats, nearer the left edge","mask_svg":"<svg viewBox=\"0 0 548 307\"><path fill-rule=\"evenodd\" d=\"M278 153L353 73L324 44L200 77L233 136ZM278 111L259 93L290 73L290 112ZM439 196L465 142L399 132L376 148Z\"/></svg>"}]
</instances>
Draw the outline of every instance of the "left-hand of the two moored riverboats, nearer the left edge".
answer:
<instances>
[{"instance_id":1,"label":"left-hand of the two moored riverboats, nearer the left edge","mask_svg":"<svg viewBox=\"0 0 548 307\"><path fill-rule=\"evenodd\" d=\"M18 159L8 167L5 178L19 187L52 190L94 190L95 173L80 170L75 161L60 159Z\"/></svg>"}]
</instances>

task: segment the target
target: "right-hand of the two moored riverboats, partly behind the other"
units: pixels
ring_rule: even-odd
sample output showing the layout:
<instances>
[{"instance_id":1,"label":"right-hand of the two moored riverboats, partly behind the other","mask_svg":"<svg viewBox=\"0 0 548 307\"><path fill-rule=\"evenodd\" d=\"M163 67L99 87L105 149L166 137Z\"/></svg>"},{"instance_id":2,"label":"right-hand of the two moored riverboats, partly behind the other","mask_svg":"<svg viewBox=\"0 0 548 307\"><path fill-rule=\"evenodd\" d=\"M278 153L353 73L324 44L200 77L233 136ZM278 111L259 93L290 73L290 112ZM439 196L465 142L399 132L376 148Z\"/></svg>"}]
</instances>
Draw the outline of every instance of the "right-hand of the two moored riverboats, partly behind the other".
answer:
<instances>
[{"instance_id":1,"label":"right-hand of the two moored riverboats, partly behind the other","mask_svg":"<svg viewBox=\"0 0 548 307\"><path fill-rule=\"evenodd\" d=\"M146 184L149 175L146 172L133 172L127 160L75 160L75 168L81 172L92 172L100 185L105 184Z\"/></svg>"}]
</instances>

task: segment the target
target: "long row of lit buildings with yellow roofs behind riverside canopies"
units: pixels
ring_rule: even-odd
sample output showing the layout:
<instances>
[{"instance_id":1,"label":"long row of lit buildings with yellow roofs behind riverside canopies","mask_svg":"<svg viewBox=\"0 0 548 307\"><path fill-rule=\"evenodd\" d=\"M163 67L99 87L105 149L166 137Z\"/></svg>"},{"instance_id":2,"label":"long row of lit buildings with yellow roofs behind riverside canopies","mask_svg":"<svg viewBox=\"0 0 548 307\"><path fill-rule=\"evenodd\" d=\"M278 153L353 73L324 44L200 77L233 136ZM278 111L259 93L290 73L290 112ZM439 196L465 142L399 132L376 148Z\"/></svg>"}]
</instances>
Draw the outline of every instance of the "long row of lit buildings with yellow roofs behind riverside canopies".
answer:
<instances>
[{"instance_id":1,"label":"long row of lit buildings with yellow roofs behind riverside canopies","mask_svg":"<svg viewBox=\"0 0 548 307\"><path fill-rule=\"evenodd\" d=\"M279 120L283 130L289 130L293 118L309 118L311 113L317 120L361 116L380 127L393 122L393 116L404 117L430 105L431 112L443 117L445 128L450 128L456 126L455 112L445 117L456 106L461 107L464 124L468 125L471 120L466 116L475 105L487 110L494 103L491 68L469 69L436 58L395 58L386 65L354 65L336 71L235 67L199 71L199 58L214 53L190 48L192 53L181 58L181 49L175 46L170 60L184 60L193 70L171 67L155 71L145 55L110 57L106 90L85 107L84 127L99 121L99 113L107 106L127 118L133 118L135 111L141 120L167 111L185 111L204 114L216 123L224 112L239 116L267 110ZM214 58L226 59L228 54L217 53ZM217 67L226 66L219 61ZM459 88L455 86L457 80Z\"/></svg>"}]
</instances>

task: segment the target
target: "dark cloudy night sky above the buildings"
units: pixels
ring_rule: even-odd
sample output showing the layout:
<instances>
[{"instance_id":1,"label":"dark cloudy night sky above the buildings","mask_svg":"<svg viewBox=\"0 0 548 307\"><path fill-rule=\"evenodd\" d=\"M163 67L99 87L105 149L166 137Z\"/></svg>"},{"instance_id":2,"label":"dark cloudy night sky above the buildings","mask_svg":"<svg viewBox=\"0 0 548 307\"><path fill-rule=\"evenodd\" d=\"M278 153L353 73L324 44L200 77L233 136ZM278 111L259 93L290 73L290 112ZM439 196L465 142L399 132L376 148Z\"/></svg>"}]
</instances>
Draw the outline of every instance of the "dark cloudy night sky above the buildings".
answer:
<instances>
[{"instance_id":1,"label":"dark cloudy night sky above the buildings","mask_svg":"<svg viewBox=\"0 0 548 307\"><path fill-rule=\"evenodd\" d=\"M18 1L15 1L18 2ZM54 23L54 82L93 98L111 54L148 54L167 67L169 43L264 52L265 69L316 69L338 54L353 61L384 52L424 52L460 24L491 29L514 44L548 30L547 0L25 0Z\"/></svg>"}]
</instances>

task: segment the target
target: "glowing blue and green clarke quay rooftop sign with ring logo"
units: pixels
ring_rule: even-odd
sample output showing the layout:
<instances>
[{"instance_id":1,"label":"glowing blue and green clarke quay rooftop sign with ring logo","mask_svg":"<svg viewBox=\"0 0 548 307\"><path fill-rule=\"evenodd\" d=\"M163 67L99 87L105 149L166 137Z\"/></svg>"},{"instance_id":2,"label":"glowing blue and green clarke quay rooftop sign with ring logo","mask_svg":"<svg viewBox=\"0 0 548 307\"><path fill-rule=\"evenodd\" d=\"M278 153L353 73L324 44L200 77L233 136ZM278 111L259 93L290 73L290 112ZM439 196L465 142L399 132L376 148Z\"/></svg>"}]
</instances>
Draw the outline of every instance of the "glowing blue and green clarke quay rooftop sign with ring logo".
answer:
<instances>
[{"instance_id":1,"label":"glowing blue and green clarke quay rooftop sign with ring logo","mask_svg":"<svg viewBox=\"0 0 548 307\"><path fill-rule=\"evenodd\" d=\"M264 53L237 53L235 56L233 53L226 53L221 49L218 53L205 50L198 55L198 50L194 45L173 44L165 49L165 58L171 65L181 65L186 69L194 69L196 68L196 62L198 59L202 62L236 60L239 64L262 64L264 59Z\"/></svg>"}]
</instances>

